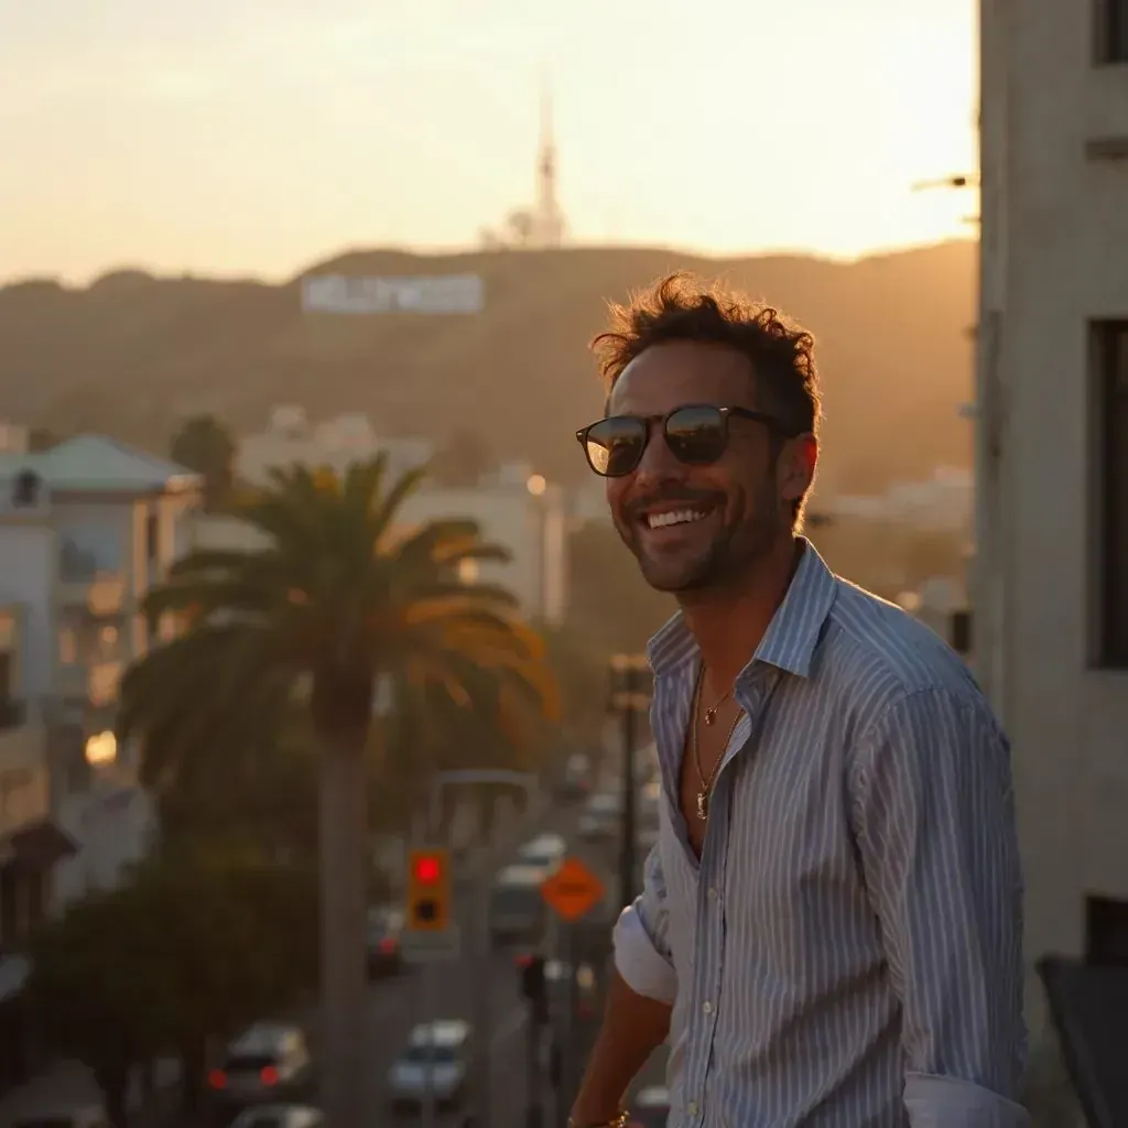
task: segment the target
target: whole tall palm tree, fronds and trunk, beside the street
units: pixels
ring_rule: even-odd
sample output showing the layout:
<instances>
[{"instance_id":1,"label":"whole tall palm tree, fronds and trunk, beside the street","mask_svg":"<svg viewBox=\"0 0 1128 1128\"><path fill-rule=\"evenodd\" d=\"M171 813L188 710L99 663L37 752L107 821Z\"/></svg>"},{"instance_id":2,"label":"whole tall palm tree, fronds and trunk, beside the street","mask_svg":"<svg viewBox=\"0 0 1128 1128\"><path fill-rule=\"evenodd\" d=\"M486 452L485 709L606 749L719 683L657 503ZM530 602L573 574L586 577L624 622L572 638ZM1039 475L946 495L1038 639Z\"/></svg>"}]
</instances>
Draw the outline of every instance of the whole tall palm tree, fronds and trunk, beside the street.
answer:
<instances>
[{"instance_id":1,"label":"whole tall palm tree, fronds and trunk, beside the street","mask_svg":"<svg viewBox=\"0 0 1128 1128\"><path fill-rule=\"evenodd\" d=\"M321 1042L335 1128L360 1128L364 1117L364 757L381 678L438 686L462 703L486 678L554 707L540 640L514 616L511 594L458 579L461 562L508 553L470 521L397 527L422 477L386 487L382 457L343 477L274 472L236 506L265 547L195 552L173 566L146 610L192 625L138 662L122 691L120 730L159 750L153 776L193 758L215 770L210 742L238 756L262 747L253 735L264 711L284 715L294 699L306 710L320 764ZM202 686L206 698L194 693Z\"/></svg>"}]
</instances>

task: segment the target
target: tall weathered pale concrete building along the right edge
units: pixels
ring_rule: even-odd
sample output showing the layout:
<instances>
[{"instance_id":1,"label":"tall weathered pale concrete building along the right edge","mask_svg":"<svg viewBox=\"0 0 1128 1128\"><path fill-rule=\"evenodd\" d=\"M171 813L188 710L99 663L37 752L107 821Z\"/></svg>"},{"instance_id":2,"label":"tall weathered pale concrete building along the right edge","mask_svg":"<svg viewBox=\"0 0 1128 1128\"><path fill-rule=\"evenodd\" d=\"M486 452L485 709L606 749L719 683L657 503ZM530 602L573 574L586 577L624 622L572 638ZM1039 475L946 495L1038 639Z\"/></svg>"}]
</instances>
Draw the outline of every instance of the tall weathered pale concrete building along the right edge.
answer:
<instances>
[{"instance_id":1,"label":"tall weathered pale concrete building along the right edge","mask_svg":"<svg viewBox=\"0 0 1128 1128\"><path fill-rule=\"evenodd\" d=\"M1028 954L1128 955L1128 0L984 0L976 669Z\"/></svg>"}]
</instances>

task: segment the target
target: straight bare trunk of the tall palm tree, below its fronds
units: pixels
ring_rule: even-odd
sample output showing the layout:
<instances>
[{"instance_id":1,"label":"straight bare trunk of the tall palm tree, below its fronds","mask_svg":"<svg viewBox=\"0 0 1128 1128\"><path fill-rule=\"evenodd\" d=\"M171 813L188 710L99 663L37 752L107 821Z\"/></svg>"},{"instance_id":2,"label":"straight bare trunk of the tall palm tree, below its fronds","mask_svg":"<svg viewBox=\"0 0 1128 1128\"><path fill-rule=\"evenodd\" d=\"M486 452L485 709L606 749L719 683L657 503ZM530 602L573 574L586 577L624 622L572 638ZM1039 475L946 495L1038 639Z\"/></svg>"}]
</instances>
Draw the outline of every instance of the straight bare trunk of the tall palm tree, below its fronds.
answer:
<instances>
[{"instance_id":1,"label":"straight bare trunk of the tall palm tree, below its fronds","mask_svg":"<svg viewBox=\"0 0 1128 1128\"><path fill-rule=\"evenodd\" d=\"M364 734L327 740L320 763L320 1063L327 1122L363 1128L368 873Z\"/></svg>"}]
</instances>

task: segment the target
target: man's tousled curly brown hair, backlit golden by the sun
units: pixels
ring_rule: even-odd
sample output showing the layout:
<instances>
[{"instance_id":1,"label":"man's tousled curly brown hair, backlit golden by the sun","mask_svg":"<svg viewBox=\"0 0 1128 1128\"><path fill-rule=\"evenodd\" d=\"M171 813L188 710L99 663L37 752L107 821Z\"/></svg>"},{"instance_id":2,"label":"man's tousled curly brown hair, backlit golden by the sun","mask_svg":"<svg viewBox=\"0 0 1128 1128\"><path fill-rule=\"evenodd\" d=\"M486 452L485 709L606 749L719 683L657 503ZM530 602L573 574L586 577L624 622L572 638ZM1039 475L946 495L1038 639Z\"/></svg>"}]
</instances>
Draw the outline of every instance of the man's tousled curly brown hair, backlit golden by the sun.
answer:
<instances>
[{"instance_id":1,"label":"man's tousled curly brown hair, backlit golden by the sun","mask_svg":"<svg viewBox=\"0 0 1128 1128\"><path fill-rule=\"evenodd\" d=\"M822 397L814 337L772 306L679 272L632 293L626 306L611 303L610 317L610 328L591 342L608 390L652 345L724 345L748 359L760 411L791 434L818 434Z\"/></svg>"}]
</instances>

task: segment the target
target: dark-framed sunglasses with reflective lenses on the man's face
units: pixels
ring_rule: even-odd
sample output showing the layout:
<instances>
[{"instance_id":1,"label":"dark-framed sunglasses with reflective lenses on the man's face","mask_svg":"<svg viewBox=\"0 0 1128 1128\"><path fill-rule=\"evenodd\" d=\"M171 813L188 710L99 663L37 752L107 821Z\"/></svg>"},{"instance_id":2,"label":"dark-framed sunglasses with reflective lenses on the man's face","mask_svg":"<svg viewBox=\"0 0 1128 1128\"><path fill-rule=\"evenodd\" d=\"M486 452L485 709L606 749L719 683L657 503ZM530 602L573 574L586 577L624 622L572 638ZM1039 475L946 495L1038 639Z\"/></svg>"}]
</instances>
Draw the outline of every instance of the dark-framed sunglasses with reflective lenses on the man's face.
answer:
<instances>
[{"instance_id":1,"label":"dark-framed sunglasses with reflective lenses on the man's face","mask_svg":"<svg viewBox=\"0 0 1128 1128\"><path fill-rule=\"evenodd\" d=\"M638 468L651 439L652 424L661 424L670 453L686 466L708 466L729 446L729 420L735 416L763 423L777 434L786 431L777 418L747 407L686 404L667 415L609 415L576 431L588 465L601 477L622 478Z\"/></svg>"}]
</instances>

